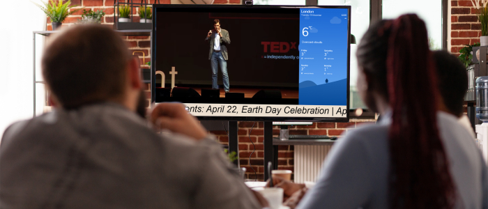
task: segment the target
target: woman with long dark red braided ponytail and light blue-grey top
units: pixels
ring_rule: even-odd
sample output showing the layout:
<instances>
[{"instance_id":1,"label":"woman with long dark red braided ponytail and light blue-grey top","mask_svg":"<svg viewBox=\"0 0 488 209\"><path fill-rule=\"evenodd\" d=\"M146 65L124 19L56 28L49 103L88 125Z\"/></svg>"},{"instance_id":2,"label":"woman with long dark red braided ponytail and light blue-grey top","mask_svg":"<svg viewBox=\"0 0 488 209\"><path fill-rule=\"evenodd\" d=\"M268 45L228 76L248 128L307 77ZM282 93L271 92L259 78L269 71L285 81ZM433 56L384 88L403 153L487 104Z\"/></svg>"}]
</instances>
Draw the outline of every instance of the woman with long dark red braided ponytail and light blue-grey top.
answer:
<instances>
[{"instance_id":1,"label":"woman with long dark red braided ponytail and light blue-grey top","mask_svg":"<svg viewBox=\"0 0 488 209\"><path fill-rule=\"evenodd\" d=\"M480 150L455 116L437 109L425 23L417 15L378 22L356 56L361 98L383 118L336 142L298 208L488 208ZM277 186L287 195L303 187Z\"/></svg>"}]
</instances>

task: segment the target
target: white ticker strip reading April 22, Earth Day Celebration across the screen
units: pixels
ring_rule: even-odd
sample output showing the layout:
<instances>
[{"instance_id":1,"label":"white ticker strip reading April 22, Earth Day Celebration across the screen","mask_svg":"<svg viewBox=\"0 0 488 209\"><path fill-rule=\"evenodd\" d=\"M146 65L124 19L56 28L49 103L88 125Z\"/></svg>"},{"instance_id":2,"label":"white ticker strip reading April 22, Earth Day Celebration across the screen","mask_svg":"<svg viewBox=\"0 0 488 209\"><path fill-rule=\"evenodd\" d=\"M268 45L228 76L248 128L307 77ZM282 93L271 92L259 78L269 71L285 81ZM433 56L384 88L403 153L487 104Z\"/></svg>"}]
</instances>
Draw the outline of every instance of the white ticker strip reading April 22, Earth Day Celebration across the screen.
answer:
<instances>
[{"instance_id":1,"label":"white ticker strip reading April 22, Earth Day Celebration across the screen","mask_svg":"<svg viewBox=\"0 0 488 209\"><path fill-rule=\"evenodd\" d=\"M193 116L345 118L348 111L346 106L332 105L184 104Z\"/></svg>"}]
</instances>

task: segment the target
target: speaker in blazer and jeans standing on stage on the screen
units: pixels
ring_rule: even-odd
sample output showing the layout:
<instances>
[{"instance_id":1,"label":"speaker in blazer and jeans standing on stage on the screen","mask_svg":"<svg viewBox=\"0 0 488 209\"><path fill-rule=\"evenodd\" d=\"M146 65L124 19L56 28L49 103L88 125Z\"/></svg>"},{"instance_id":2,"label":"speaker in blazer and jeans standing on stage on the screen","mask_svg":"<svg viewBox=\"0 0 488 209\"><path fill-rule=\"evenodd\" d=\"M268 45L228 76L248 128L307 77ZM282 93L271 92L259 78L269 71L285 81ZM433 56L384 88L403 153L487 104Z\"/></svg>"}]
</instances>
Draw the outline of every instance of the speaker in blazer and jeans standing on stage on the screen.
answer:
<instances>
[{"instance_id":1,"label":"speaker in blazer and jeans standing on stage on the screen","mask_svg":"<svg viewBox=\"0 0 488 209\"><path fill-rule=\"evenodd\" d=\"M210 40L210 50L208 50L208 60L210 60L212 66L212 88L218 89L217 85L217 72L218 65L222 71L222 80L224 83L225 93L229 92L229 75L227 75L227 45L231 44L229 38L229 31L220 28L220 21L218 19L213 20L213 29L208 31L207 38ZM212 35L212 33L214 33Z\"/></svg>"}]
</instances>

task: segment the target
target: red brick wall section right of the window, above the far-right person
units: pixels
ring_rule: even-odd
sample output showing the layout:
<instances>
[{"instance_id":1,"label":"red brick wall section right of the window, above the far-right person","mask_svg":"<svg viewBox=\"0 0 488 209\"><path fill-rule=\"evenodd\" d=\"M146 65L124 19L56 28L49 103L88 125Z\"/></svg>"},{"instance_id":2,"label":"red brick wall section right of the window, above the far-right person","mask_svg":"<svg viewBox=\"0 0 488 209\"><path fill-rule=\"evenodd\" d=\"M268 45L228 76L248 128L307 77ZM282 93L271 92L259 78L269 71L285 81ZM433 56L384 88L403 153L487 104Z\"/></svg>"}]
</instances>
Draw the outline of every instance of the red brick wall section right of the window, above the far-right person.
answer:
<instances>
[{"instance_id":1,"label":"red brick wall section right of the window, above the far-right person","mask_svg":"<svg viewBox=\"0 0 488 209\"><path fill-rule=\"evenodd\" d=\"M480 23L470 0L451 0L450 6L450 52L459 55L459 49L462 49L464 45L480 42Z\"/></svg>"}]
</instances>

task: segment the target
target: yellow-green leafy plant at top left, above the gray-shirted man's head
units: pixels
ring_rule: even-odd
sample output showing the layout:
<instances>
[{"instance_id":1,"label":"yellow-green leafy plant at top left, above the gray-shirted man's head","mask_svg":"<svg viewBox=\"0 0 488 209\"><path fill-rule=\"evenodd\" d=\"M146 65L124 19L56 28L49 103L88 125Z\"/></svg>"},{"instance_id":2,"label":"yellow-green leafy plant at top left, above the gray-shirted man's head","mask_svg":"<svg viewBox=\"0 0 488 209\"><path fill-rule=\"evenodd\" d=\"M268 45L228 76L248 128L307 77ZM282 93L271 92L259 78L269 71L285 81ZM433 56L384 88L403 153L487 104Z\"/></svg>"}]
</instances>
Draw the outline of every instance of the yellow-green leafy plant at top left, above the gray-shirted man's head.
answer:
<instances>
[{"instance_id":1,"label":"yellow-green leafy plant at top left, above the gray-shirted man's head","mask_svg":"<svg viewBox=\"0 0 488 209\"><path fill-rule=\"evenodd\" d=\"M54 0L51 1L50 3L49 1L43 3L44 6L39 5L37 3L34 4L36 4L36 6L38 6L41 10L43 10L43 12L46 13L47 17L49 17L52 23L52 29L54 31L61 26L63 20L66 19L68 15L71 15L81 9L79 8L68 12L70 8L78 6L78 5L70 6L71 0L66 1L66 3L63 3L63 0L59 0L58 3L56 3L56 1Z\"/></svg>"}]
</instances>

